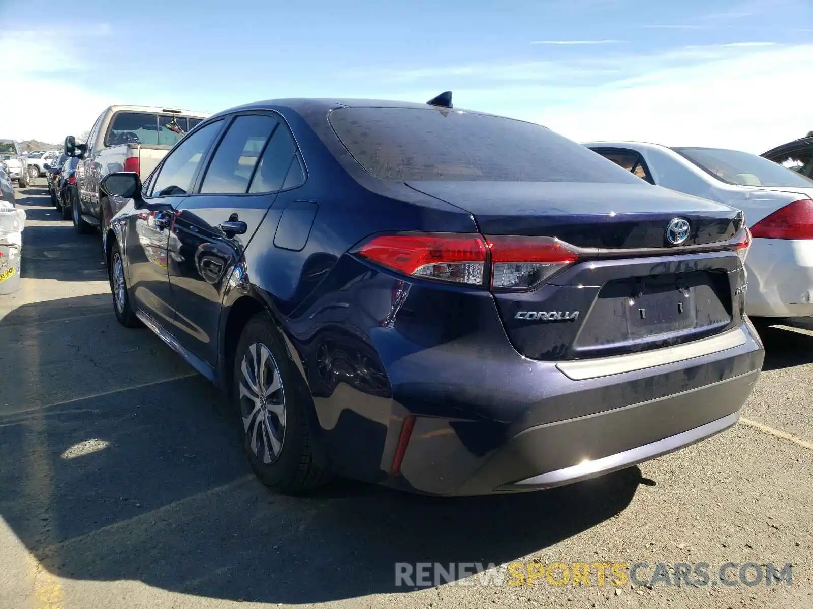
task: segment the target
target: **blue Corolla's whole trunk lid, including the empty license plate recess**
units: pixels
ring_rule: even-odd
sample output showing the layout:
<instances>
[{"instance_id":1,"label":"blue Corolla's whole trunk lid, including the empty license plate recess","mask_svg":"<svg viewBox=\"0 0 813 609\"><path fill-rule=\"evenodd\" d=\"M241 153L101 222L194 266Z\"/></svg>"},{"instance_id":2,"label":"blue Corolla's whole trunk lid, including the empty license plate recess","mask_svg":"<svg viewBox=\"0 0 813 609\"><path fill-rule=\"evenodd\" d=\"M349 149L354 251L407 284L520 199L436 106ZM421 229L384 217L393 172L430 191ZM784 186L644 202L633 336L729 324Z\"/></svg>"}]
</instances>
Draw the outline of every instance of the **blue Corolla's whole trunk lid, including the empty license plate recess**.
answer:
<instances>
[{"instance_id":1,"label":"blue Corolla's whole trunk lid, including the empty license plate recess","mask_svg":"<svg viewBox=\"0 0 813 609\"><path fill-rule=\"evenodd\" d=\"M742 320L746 279L731 244L743 222L728 205L643 182L408 185L466 209L483 235L555 237L576 246L578 259L550 279L493 290L506 333L524 356L639 352L715 335ZM676 218L689 222L678 246L667 240Z\"/></svg>"}]
</instances>

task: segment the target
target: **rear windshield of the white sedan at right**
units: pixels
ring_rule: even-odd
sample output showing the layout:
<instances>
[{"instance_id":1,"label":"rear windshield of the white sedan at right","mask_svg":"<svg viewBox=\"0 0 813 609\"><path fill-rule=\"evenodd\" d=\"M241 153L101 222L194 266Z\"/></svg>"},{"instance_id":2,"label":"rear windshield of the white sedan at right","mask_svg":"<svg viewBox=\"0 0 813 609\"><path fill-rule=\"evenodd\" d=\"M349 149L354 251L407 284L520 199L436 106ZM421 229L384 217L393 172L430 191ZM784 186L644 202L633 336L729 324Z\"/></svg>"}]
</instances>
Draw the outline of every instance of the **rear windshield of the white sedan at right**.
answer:
<instances>
[{"instance_id":1,"label":"rear windshield of the white sedan at right","mask_svg":"<svg viewBox=\"0 0 813 609\"><path fill-rule=\"evenodd\" d=\"M813 179L799 175L767 158L739 150L674 148L702 170L727 184L740 186L798 186L810 188Z\"/></svg>"}]
</instances>

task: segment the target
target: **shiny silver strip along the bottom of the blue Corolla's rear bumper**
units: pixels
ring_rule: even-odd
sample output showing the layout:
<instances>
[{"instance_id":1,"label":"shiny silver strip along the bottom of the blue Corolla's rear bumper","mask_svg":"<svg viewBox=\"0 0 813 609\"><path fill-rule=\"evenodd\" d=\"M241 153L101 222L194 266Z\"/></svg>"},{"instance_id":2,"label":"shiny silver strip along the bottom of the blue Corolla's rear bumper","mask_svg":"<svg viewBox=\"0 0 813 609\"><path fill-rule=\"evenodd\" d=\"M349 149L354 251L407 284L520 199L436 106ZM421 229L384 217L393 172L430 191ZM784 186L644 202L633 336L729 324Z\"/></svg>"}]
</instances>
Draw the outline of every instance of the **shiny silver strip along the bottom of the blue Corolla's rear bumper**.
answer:
<instances>
[{"instance_id":1,"label":"shiny silver strip along the bottom of the blue Corolla's rear bumper","mask_svg":"<svg viewBox=\"0 0 813 609\"><path fill-rule=\"evenodd\" d=\"M729 427L735 425L739 420L740 412L732 412L721 419L695 427L693 430L684 431L680 434L672 435L650 444L644 444L640 447L630 448L628 451L602 457L601 459L585 461L584 463L572 465L569 468L557 469L554 472L541 473L538 476L520 480L520 482L512 482L511 484L503 485L499 487L498 490L537 490L553 486L562 486L571 482L577 482L590 477L601 476L605 473L611 473L619 469L632 467L635 464L643 463L644 461L665 455L667 452L676 451L679 448L689 446L689 444L697 443L702 439L719 434L721 431L727 430ZM523 489L523 487L526 488Z\"/></svg>"}]
</instances>

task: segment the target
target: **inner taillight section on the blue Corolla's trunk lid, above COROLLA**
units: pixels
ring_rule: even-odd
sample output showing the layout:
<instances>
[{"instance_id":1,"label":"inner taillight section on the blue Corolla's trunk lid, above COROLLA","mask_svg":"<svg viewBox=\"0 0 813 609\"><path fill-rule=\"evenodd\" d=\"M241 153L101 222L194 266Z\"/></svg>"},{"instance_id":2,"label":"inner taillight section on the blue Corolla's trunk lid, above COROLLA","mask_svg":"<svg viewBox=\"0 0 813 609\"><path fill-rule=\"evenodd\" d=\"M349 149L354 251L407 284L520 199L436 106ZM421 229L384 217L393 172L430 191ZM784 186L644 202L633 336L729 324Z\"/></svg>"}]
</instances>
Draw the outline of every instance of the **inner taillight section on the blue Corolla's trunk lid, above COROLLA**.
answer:
<instances>
[{"instance_id":1,"label":"inner taillight section on the blue Corolla's trunk lid, above COROLLA","mask_svg":"<svg viewBox=\"0 0 813 609\"><path fill-rule=\"evenodd\" d=\"M486 236L494 289L534 287L575 262L579 255L551 237Z\"/></svg>"}]
</instances>

